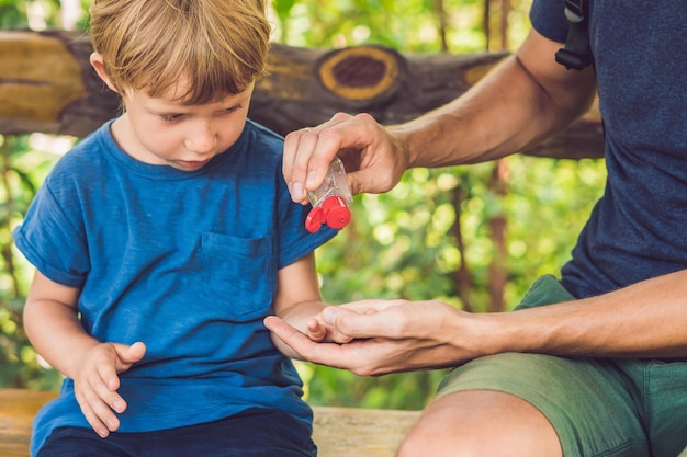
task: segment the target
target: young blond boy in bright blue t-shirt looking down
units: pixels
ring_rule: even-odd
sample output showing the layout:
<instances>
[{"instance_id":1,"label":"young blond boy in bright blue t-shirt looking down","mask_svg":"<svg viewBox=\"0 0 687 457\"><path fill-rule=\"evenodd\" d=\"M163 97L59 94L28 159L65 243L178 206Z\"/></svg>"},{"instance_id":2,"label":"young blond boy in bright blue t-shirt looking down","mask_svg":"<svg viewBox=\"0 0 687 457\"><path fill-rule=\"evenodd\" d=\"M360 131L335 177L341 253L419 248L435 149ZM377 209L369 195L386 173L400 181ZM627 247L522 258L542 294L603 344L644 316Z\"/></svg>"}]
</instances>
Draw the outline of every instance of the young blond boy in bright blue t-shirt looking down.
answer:
<instances>
[{"instance_id":1,"label":"young blond boy in bright blue t-shirt looking down","mask_svg":"<svg viewBox=\"0 0 687 457\"><path fill-rule=\"evenodd\" d=\"M305 230L282 138L247 119L269 34L263 0L93 3L91 64L124 113L14 232L26 332L66 376L32 456L316 455L262 319L317 331L312 251L335 232Z\"/></svg>"}]
</instances>

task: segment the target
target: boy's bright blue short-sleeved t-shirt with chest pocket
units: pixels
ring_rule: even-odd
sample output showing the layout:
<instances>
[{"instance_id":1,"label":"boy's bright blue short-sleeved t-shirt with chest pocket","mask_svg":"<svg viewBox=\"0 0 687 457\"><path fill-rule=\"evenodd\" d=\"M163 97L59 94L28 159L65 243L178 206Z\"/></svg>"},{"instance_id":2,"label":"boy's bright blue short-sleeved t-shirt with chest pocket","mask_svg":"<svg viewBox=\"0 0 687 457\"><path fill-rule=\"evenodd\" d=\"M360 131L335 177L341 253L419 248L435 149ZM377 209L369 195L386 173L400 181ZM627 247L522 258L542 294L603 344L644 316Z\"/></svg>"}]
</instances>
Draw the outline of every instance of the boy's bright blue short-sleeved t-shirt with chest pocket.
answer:
<instances>
[{"instance_id":1,"label":"boy's bright blue short-sleeved t-shirt with chest pocket","mask_svg":"<svg viewBox=\"0 0 687 457\"><path fill-rule=\"evenodd\" d=\"M291 201L283 140L250 121L234 146L198 171L139 162L106 123L53 169L14 232L48 278L81 287L86 331L147 345L121 374L122 432L210 422L279 408L309 425L302 382L262 319L279 269L336 232L304 228ZM58 426L90 427L66 379L36 416L35 454Z\"/></svg>"}]
</instances>

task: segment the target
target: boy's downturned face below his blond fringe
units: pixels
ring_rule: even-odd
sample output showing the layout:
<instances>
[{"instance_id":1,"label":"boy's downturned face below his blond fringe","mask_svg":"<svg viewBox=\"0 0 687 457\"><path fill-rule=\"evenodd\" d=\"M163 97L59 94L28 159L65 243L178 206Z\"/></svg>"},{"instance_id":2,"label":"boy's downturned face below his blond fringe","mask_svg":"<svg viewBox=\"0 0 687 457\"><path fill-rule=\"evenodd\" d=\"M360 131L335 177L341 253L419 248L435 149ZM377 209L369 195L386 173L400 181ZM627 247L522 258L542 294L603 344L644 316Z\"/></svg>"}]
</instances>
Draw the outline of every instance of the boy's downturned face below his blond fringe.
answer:
<instances>
[{"instance_id":1,"label":"boy's downturned face below his blond fringe","mask_svg":"<svg viewBox=\"0 0 687 457\"><path fill-rule=\"evenodd\" d=\"M160 98L128 92L122 94L126 112L113 124L113 135L137 160L198 170L236 142L246 125L252 90L254 84L200 105L182 104L176 90Z\"/></svg>"}]
</instances>

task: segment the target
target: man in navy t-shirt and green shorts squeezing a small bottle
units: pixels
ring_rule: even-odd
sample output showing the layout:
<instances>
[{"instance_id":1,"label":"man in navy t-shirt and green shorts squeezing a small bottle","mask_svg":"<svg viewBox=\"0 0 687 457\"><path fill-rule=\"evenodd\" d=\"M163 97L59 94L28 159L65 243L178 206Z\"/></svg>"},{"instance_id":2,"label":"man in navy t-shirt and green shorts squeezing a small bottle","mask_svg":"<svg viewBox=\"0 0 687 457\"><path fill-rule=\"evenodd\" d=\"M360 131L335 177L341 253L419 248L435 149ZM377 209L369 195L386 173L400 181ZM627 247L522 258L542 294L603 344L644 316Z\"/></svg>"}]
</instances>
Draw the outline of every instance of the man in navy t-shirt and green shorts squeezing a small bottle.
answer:
<instances>
[{"instance_id":1,"label":"man in navy t-shirt and green shorts squeezing a small bottle","mask_svg":"<svg viewBox=\"0 0 687 457\"><path fill-rule=\"evenodd\" d=\"M342 345L266 320L303 358L359 375L457 366L399 456L675 457L687 446L683 9L680 0L592 0L594 67L576 71L554 60L567 34L564 2L534 0L522 46L447 106L390 127L338 114L288 136L294 201L336 153L351 151L353 192L386 192L408 168L532 146L583 114L598 90L606 192L560 281L539 278L508 313L436 300L326 308L322 320L353 339Z\"/></svg>"}]
</instances>

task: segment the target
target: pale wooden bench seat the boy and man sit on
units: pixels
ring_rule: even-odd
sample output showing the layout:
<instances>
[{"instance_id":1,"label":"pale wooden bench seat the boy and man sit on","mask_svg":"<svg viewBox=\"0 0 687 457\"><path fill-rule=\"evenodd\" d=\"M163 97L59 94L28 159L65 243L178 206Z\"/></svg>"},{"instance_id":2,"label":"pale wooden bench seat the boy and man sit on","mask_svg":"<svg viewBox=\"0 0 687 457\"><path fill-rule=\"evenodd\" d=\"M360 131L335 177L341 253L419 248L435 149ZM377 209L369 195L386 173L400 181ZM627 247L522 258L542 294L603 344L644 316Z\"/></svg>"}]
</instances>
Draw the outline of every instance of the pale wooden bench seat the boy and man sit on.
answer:
<instances>
[{"instance_id":1,"label":"pale wooden bench seat the boy and man sit on","mask_svg":"<svg viewBox=\"0 0 687 457\"><path fill-rule=\"evenodd\" d=\"M31 422L56 392L0 389L0 456L27 457ZM313 407L319 457L393 456L418 411Z\"/></svg>"}]
</instances>

